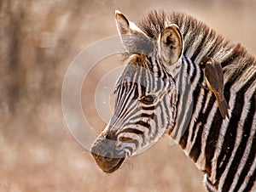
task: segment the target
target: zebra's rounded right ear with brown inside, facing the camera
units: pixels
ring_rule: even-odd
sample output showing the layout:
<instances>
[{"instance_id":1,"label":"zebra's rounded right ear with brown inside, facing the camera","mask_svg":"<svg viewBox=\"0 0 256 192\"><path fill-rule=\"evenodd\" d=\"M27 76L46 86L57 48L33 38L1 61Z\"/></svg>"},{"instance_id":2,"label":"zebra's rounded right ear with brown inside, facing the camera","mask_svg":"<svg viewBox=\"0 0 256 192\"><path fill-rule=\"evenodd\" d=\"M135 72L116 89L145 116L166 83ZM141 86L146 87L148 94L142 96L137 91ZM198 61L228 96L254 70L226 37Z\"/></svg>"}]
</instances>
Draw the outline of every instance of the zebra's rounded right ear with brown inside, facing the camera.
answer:
<instances>
[{"instance_id":1,"label":"zebra's rounded right ear with brown inside, facing the camera","mask_svg":"<svg viewBox=\"0 0 256 192\"><path fill-rule=\"evenodd\" d=\"M183 37L175 24L161 31L158 43L160 57L167 65L175 64L183 54Z\"/></svg>"}]
</instances>

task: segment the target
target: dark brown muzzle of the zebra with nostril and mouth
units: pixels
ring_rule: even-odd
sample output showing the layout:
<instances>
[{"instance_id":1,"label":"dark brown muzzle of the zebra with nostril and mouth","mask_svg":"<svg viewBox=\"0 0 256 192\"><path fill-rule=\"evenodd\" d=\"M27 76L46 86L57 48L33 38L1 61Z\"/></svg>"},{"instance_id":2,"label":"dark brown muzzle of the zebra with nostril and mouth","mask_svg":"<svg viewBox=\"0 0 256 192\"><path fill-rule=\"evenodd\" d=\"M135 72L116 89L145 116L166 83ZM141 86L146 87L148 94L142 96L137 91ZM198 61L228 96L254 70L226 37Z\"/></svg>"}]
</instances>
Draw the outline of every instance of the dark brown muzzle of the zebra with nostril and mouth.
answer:
<instances>
[{"instance_id":1,"label":"dark brown muzzle of the zebra with nostril and mouth","mask_svg":"<svg viewBox=\"0 0 256 192\"><path fill-rule=\"evenodd\" d=\"M98 138L90 153L103 172L112 173L119 169L125 161L125 153L116 150L116 142L108 138Z\"/></svg>"}]
</instances>

